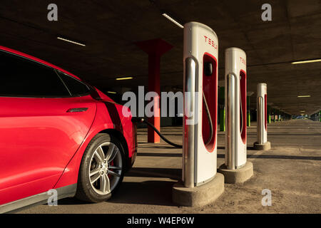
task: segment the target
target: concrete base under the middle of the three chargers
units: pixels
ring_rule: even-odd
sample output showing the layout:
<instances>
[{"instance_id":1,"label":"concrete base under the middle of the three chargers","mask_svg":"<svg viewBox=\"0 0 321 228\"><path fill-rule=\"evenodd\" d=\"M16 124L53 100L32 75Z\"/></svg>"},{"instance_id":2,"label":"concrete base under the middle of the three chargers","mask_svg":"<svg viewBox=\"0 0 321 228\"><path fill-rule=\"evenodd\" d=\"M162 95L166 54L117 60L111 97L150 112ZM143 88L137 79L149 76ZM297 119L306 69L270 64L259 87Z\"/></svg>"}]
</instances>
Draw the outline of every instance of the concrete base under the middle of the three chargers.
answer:
<instances>
[{"instance_id":1,"label":"concrete base under the middle of the three chargers","mask_svg":"<svg viewBox=\"0 0 321 228\"><path fill-rule=\"evenodd\" d=\"M236 170L228 170L225 164L220 165L218 172L224 175L225 183L240 184L250 179L253 176L253 163L246 162L243 167Z\"/></svg>"}]
</instances>

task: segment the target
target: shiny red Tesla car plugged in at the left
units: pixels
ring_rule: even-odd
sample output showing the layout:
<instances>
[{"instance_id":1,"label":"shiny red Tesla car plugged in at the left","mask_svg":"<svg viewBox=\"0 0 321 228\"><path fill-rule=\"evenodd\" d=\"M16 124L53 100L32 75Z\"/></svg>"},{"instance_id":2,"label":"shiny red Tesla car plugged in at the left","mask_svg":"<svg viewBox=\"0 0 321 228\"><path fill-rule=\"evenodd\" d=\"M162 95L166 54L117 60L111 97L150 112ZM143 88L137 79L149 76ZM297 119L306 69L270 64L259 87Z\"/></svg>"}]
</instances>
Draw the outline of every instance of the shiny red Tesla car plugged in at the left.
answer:
<instances>
[{"instance_id":1,"label":"shiny red Tesla car plugged in at the left","mask_svg":"<svg viewBox=\"0 0 321 228\"><path fill-rule=\"evenodd\" d=\"M0 212L73 197L101 202L136 159L131 114L100 90L0 46ZM54 190L52 190L54 189Z\"/></svg>"}]
</instances>

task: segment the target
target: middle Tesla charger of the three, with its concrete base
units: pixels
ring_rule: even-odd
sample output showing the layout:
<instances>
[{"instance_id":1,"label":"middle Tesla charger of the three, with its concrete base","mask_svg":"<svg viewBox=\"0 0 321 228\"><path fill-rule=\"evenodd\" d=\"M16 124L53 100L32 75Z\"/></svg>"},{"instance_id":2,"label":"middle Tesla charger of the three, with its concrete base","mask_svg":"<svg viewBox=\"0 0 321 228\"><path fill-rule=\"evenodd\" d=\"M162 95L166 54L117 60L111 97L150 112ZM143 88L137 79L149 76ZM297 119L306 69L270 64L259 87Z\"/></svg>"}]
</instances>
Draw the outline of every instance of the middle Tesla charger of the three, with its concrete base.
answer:
<instances>
[{"instance_id":1,"label":"middle Tesla charger of the three, with its concrete base","mask_svg":"<svg viewBox=\"0 0 321 228\"><path fill-rule=\"evenodd\" d=\"M245 182L253 175L246 159L246 55L240 48L225 50L225 182Z\"/></svg>"}]
</instances>

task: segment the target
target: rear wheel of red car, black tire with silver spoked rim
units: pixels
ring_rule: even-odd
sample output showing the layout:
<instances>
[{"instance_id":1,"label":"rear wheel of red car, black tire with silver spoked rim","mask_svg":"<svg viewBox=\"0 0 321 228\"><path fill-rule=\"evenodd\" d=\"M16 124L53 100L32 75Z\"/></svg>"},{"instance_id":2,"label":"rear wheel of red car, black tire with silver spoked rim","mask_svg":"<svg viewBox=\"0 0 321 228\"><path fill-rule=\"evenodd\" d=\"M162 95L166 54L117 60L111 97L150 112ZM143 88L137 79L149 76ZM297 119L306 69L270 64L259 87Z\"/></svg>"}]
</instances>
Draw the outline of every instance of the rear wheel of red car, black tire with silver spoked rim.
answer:
<instances>
[{"instance_id":1,"label":"rear wheel of red car, black tire with silver spoked rim","mask_svg":"<svg viewBox=\"0 0 321 228\"><path fill-rule=\"evenodd\" d=\"M97 134L81 160L76 198L86 202L106 201L121 185L125 166L121 142L112 135Z\"/></svg>"}]
</instances>

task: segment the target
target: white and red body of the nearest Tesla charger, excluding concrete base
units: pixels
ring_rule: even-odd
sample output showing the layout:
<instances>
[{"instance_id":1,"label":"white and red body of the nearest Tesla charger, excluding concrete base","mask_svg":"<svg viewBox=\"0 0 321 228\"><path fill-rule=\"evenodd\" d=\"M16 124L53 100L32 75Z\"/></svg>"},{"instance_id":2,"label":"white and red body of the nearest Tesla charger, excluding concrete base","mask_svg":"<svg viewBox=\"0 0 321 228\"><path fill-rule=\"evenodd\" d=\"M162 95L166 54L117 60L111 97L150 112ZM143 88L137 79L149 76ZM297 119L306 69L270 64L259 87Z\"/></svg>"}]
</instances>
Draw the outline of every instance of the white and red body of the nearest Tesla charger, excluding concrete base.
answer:
<instances>
[{"instance_id":1,"label":"white and red body of the nearest Tesla charger, excluding concrete base","mask_svg":"<svg viewBox=\"0 0 321 228\"><path fill-rule=\"evenodd\" d=\"M185 187L194 187L216 174L218 37L208 26L190 23L184 27L184 41L184 94L190 93L192 99L184 103L182 179ZM206 75L205 64L212 70L209 75ZM210 124L203 93L213 125L212 139L207 144Z\"/></svg>"}]
</instances>

